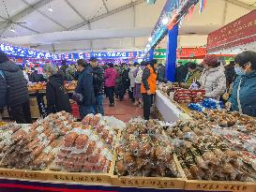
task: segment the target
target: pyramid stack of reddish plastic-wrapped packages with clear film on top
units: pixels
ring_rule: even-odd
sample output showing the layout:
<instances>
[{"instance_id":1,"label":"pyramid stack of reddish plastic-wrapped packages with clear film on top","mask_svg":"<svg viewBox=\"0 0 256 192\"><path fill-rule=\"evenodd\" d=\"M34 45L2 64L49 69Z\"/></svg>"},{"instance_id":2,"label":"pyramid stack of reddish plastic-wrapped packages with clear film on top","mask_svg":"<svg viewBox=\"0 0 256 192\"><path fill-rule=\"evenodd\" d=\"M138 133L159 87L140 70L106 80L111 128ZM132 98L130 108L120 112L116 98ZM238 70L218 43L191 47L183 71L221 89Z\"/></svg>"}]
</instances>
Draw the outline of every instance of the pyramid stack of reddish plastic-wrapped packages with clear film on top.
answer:
<instances>
[{"instance_id":1,"label":"pyramid stack of reddish plastic-wrapped packages with clear film on top","mask_svg":"<svg viewBox=\"0 0 256 192\"><path fill-rule=\"evenodd\" d=\"M74 128L65 136L54 168L74 172L107 172L112 158L112 152L107 144L100 140L97 132Z\"/></svg>"}]
</instances>

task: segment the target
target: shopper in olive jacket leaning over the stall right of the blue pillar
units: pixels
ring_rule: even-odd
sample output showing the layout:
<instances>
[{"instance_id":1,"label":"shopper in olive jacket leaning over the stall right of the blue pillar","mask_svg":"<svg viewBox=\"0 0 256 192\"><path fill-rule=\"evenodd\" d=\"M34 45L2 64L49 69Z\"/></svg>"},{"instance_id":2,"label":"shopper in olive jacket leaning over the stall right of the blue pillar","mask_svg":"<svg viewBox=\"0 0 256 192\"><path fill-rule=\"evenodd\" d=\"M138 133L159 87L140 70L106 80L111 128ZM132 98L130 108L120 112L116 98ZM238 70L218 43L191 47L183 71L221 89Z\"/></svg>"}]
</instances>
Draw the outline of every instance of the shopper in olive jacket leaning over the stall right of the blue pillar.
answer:
<instances>
[{"instance_id":1,"label":"shopper in olive jacket leaning over the stall right of the blue pillar","mask_svg":"<svg viewBox=\"0 0 256 192\"><path fill-rule=\"evenodd\" d=\"M195 81L199 81L201 77L201 71L197 67L196 63L188 62L188 74L184 81L184 83L181 83L181 87L188 89L190 85Z\"/></svg>"}]
</instances>

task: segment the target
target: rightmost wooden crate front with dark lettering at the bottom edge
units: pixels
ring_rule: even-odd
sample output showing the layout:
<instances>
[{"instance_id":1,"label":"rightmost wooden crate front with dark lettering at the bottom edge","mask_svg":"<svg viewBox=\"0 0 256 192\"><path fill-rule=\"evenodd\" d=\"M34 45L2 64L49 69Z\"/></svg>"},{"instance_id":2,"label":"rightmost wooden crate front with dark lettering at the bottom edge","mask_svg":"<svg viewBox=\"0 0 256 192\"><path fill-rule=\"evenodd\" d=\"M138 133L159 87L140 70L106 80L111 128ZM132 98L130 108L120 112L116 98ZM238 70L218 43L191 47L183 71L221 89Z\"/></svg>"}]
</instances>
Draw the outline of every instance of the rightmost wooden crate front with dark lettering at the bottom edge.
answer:
<instances>
[{"instance_id":1,"label":"rightmost wooden crate front with dark lettering at the bottom edge","mask_svg":"<svg viewBox=\"0 0 256 192\"><path fill-rule=\"evenodd\" d=\"M185 190L256 192L256 183L187 180Z\"/></svg>"}]
</instances>

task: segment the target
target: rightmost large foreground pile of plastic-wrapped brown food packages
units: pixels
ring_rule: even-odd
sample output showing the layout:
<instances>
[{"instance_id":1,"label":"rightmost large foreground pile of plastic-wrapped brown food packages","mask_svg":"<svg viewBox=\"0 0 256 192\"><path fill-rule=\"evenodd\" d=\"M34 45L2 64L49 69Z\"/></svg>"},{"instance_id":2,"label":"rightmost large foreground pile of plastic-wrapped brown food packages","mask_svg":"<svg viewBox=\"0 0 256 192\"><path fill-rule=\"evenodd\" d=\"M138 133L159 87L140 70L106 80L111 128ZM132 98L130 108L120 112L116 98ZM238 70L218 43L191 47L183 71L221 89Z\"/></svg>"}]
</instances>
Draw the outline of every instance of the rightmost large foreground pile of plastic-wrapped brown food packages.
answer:
<instances>
[{"instance_id":1,"label":"rightmost large foreground pile of plastic-wrapped brown food packages","mask_svg":"<svg viewBox=\"0 0 256 192\"><path fill-rule=\"evenodd\" d=\"M178 122L166 131L188 179L254 182L255 159L223 140L216 126L203 120Z\"/></svg>"}]
</instances>

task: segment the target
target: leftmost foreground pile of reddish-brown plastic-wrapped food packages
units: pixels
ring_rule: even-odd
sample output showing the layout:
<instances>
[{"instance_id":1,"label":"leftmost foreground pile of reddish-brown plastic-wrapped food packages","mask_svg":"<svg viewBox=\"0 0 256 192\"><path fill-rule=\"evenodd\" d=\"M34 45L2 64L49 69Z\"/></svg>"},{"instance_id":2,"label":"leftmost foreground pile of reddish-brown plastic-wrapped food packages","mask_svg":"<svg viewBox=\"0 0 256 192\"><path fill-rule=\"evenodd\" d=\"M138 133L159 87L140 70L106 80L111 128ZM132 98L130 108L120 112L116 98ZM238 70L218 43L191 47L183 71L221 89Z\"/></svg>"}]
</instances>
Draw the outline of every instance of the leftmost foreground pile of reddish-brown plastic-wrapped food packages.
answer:
<instances>
[{"instance_id":1,"label":"leftmost foreground pile of reddish-brown plastic-wrapped food packages","mask_svg":"<svg viewBox=\"0 0 256 192\"><path fill-rule=\"evenodd\" d=\"M32 125L8 124L1 135L2 166L24 170L44 170L50 165L62 136L73 128L75 119L65 111L50 114Z\"/></svg>"}]
</instances>

